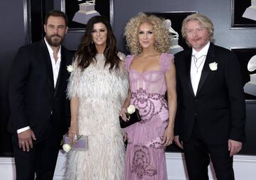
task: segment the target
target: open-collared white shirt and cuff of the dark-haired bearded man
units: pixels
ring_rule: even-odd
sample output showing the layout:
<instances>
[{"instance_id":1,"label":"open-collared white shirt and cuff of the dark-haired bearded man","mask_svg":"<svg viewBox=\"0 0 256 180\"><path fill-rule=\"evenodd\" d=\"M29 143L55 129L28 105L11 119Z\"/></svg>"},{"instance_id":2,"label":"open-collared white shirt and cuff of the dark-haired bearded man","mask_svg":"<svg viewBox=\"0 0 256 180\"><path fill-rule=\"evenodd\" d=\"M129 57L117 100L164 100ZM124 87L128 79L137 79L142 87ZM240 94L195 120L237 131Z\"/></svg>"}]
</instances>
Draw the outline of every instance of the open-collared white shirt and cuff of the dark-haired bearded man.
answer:
<instances>
[{"instance_id":1,"label":"open-collared white shirt and cuff of the dark-haired bearded man","mask_svg":"<svg viewBox=\"0 0 256 180\"><path fill-rule=\"evenodd\" d=\"M57 82L57 79L58 79L58 74L59 74L59 71L60 71L60 61L61 61L61 45L60 45L60 49L58 51L58 55L57 55L57 61L55 62L55 59L54 59L54 55L53 55L53 49L50 47L50 45L48 44L46 38L44 38L45 42L46 42L46 47L48 49L48 52L50 54L50 62L52 64L52 68L53 68L53 82L54 82L54 88L56 86L56 82ZM22 133L23 131L25 130L29 130L30 127L29 126L26 126L25 128L21 128L21 129L18 129L17 130L17 133Z\"/></svg>"}]
</instances>

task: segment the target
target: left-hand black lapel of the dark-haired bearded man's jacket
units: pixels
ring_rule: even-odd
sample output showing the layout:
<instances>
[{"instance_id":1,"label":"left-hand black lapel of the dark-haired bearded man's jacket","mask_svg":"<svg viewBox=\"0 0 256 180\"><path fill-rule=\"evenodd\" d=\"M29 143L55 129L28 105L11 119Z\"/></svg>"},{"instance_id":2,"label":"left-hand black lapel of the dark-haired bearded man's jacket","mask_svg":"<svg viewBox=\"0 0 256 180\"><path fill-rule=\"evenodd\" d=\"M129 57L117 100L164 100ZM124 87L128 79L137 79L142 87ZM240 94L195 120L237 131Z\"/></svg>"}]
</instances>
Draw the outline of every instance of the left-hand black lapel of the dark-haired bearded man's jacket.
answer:
<instances>
[{"instance_id":1,"label":"left-hand black lapel of the dark-haired bearded man's jacket","mask_svg":"<svg viewBox=\"0 0 256 180\"><path fill-rule=\"evenodd\" d=\"M48 84L51 88L54 89L54 81L53 81L53 67L50 62L50 54L46 46L46 42L44 40L41 40L41 50L44 55L44 60L46 62L46 69L47 69L47 79Z\"/></svg>"}]
</instances>

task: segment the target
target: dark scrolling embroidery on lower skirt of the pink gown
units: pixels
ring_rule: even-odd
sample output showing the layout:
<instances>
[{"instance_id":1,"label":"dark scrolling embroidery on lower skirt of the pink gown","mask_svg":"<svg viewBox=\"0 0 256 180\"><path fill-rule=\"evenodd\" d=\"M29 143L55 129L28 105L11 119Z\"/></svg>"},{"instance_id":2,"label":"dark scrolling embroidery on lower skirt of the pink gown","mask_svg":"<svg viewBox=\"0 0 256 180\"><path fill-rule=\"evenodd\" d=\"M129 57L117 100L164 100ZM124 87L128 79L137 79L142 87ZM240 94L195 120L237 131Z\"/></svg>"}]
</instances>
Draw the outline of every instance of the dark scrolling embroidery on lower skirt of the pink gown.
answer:
<instances>
[{"instance_id":1,"label":"dark scrolling embroidery on lower skirt of the pink gown","mask_svg":"<svg viewBox=\"0 0 256 180\"><path fill-rule=\"evenodd\" d=\"M132 172L134 172L139 179L142 179L145 175L156 175L156 169L151 166L149 147L134 145Z\"/></svg>"}]
</instances>

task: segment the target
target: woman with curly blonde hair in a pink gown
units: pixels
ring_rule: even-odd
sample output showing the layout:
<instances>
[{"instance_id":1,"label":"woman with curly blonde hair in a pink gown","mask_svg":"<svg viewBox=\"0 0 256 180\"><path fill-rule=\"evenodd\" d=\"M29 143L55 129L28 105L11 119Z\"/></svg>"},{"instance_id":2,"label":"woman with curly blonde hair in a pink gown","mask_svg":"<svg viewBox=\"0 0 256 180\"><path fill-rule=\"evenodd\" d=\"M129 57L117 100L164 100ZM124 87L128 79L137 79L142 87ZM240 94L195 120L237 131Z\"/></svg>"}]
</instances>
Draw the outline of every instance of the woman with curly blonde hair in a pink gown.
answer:
<instances>
[{"instance_id":1,"label":"woman with curly blonde hair in a pink gown","mask_svg":"<svg viewBox=\"0 0 256 180\"><path fill-rule=\"evenodd\" d=\"M127 120L127 107L133 104L142 118L124 128L128 140L125 179L166 180L164 150L174 139L176 115L174 56L166 53L170 37L160 18L144 13L127 23L124 36L132 55L126 60L130 91L121 116Z\"/></svg>"}]
</instances>

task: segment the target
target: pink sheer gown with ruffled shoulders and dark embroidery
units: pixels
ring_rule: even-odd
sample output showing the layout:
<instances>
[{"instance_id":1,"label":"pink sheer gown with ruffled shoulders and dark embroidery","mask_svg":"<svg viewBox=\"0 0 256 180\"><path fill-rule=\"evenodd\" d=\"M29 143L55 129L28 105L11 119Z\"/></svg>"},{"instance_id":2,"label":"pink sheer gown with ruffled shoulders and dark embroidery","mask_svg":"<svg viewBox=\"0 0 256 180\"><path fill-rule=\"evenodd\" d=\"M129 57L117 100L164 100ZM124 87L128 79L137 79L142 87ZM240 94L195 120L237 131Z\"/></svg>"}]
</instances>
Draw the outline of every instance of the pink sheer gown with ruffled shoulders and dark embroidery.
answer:
<instances>
[{"instance_id":1,"label":"pink sheer gown with ruffled shoulders and dark embroidery","mask_svg":"<svg viewBox=\"0 0 256 180\"><path fill-rule=\"evenodd\" d=\"M161 54L160 70L143 73L130 68L133 59L134 55L129 55L126 60L131 104L139 109L142 121L124 129L128 137L125 179L166 180L166 157L161 143L169 123L164 74L170 69L174 56Z\"/></svg>"}]
</instances>

